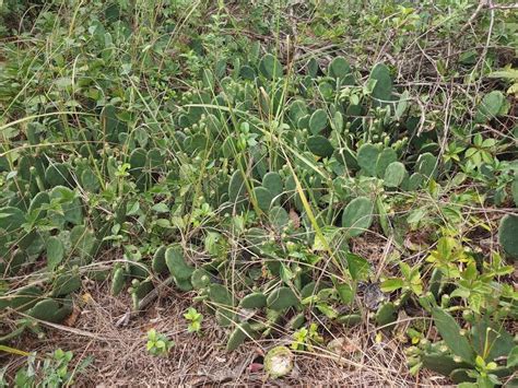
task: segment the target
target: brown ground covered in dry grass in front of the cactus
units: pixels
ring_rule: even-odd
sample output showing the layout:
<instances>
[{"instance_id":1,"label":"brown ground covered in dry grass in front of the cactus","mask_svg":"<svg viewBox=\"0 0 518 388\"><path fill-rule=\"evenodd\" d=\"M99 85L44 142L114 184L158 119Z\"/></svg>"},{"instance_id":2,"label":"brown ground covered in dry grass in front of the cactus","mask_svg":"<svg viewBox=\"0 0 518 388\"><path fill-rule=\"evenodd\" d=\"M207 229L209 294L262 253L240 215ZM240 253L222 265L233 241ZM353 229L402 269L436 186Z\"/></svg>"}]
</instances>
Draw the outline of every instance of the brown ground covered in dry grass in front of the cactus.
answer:
<instances>
[{"instance_id":1,"label":"brown ground covered in dry grass in front of the cactus","mask_svg":"<svg viewBox=\"0 0 518 388\"><path fill-rule=\"evenodd\" d=\"M212 316L204 314L202 334L187 331L183 314L188 297L168 290L126 327L117 321L128 311L129 297L113 297L107 284L92 283L89 292L78 295L75 314L68 325L46 329L46 338L25 336L12 345L45 355L57 348L72 351L71 365L86 356L93 363L78 375L79 387L156 387L156 386L356 386L407 387L444 386L440 377L408 374L402 348L395 340L374 341L375 331L360 326L333 337L345 339L341 357L335 360L326 349L297 352L295 368L287 378L268 379L261 368L262 355L271 346L287 344L290 337L247 342L234 352L226 352L227 332ZM155 328L174 340L166 357L146 353L146 332ZM329 334L327 341L332 340ZM22 365L24 357L0 358L8 365L8 375Z\"/></svg>"}]
</instances>

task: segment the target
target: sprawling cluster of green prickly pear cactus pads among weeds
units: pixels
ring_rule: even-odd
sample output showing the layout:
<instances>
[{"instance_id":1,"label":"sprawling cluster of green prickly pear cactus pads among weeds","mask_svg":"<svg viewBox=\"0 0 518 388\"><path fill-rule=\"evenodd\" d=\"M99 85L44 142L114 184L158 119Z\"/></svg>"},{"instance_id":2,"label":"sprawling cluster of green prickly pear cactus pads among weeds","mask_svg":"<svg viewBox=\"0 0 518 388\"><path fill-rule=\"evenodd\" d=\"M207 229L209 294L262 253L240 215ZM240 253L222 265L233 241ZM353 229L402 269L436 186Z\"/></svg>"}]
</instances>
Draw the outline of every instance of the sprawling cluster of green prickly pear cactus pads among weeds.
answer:
<instances>
[{"instance_id":1,"label":"sprawling cluster of green prickly pear cactus pads among weeds","mask_svg":"<svg viewBox=\"0 0 518 388\"><path fill-rule=\"evenodd\" d=\"M421 304L442 346L425 343L415 355L454 381L470 380L484 328L472 325L464 336L447 311L468 293L448 295L449 273L460 277L466 261L451 264L447 257L444 267L432 267L427 292L414 295L412 285L423 285L401 282L374 306L356 297L373 273L349 246L384 233L395 256L411 250L399 235L404 220L398 207L452 171L438 140L417 129L409 94L400 93L384 63L365 79L342 57L327 69L311 58L292 74L275 55L259 52L250 47L246 59L202 69L160 117L132 117L123 98L104 102L94 122L67 134L67 143L80 144L63 146L69 154L43 146L64 130L28 124L20 138L34 152L0 153L0 173L9 175L2 180L9 195L0 199L0 248L9 249L0 254L0 272L35 269L38 285L9 290L0 309L61 321L83 269L113 244L122 252L110 271L113 295L129 293L134 310L158 282L196 295L193 303L228 332L228 351L279 334L279 327L298 330L314 316L391 330L404 307ZM291 77L294 87L285 89ZM498 117L504 99L486 95L474 121ZM396 198L400 191L404 196ZM515 202L517 192L515 177ZM501 221L506 258L518 257L517 220L508 214ZM474 271L484 266L480 260ZM509 334L486 327L498 334L487 361L507 355ZM290 369L289 352L269 352L266 365L282 355ZM272 366L268 373L286 372ZM510 368L498 365L497 373L507 376Z\"/></svg>"}]
</instances>

